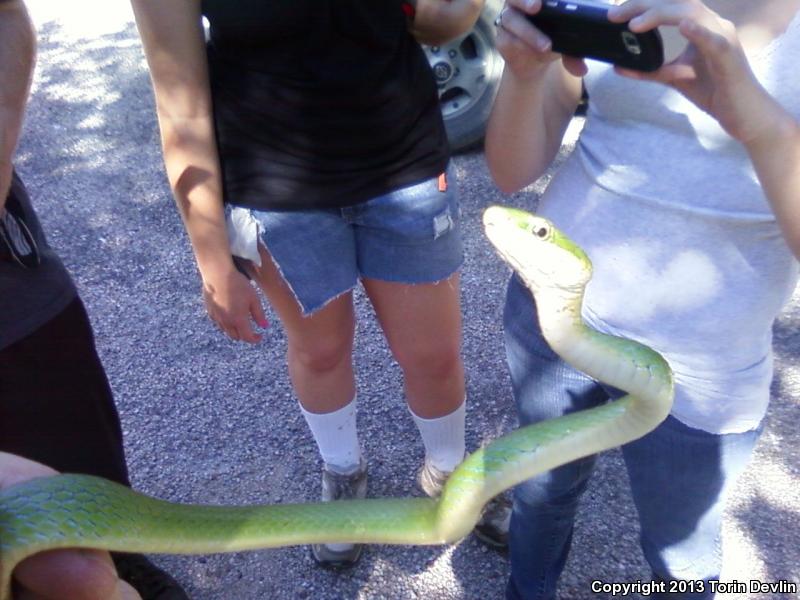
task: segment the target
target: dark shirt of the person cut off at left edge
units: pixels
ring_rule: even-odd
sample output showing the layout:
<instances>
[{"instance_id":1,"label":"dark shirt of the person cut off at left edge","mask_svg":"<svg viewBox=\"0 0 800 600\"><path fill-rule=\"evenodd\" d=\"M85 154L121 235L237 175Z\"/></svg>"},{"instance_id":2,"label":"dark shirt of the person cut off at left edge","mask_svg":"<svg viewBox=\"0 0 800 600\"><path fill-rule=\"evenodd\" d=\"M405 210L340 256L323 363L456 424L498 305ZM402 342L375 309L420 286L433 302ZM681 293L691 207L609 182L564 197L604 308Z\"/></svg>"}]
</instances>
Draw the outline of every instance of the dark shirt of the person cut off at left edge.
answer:
<instances>
[{"instance_id":1,"label":"dark shirt of the person cut off at left edge","mask_svg":"<svg viewBox=\"0 0 800 600\"><path fill-rule=\"evenodd\" d=\"M7 252L0 251L0 348L32 334L64 310L77 294L69 273L47 245L25 186L16 173L8 202L19 209L36 241L41 262L26 269Z\"/></svg>"}]
</instances>

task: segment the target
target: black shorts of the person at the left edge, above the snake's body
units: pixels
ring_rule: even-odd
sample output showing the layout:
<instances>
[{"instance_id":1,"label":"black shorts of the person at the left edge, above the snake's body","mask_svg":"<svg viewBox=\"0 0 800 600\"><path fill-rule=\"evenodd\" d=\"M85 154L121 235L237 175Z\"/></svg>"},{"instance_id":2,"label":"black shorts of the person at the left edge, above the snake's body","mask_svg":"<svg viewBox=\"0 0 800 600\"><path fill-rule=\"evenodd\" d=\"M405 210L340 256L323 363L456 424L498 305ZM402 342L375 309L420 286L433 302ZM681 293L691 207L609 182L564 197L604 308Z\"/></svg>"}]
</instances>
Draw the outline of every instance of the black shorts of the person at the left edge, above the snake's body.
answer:
<instances>
[{"instance_id":1,"label":"black shorts of the person at the left edge, above the snake's body","mask_svg":"<svg viewBox=\"0 0 800 600\"><path fill-rule=\"evenodd\" d=\"M0 451L129 485L119 415L80 298L0 350Z\"/></svg>"}]
</instances>

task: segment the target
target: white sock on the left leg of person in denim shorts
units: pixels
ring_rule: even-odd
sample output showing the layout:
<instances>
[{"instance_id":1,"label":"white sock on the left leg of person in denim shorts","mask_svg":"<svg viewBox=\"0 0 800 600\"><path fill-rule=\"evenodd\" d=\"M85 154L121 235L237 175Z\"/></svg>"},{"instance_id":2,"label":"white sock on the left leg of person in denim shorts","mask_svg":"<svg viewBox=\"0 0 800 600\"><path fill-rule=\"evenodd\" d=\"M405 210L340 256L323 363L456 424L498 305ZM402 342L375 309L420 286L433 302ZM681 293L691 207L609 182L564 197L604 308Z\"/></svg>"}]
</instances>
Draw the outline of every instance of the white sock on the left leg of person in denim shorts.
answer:
<instances>
[{"instance_id":1,"label":"white sock on the left leg of person in denim shorts","mask_svg":"<svg viewBox=\"0 0 800 600\"><path fill-rule=\"evenodd\" d=\"M343 475L354 473L361 464L361 447L356 431L356 399L329 413L300 410L329 469Z\"/></svg>"}]
</instances>

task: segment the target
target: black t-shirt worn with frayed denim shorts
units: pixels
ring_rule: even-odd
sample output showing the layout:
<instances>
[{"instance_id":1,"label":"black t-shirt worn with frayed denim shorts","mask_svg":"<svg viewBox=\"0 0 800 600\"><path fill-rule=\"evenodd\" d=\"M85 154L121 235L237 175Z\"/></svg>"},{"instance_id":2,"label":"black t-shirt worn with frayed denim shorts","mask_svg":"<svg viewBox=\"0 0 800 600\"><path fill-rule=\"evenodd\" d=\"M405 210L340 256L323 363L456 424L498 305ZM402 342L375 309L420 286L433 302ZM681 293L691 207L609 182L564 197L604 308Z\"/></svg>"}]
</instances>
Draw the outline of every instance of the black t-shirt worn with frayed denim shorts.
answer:
<instances>
[{"instance_id":1,"label":"black t-shirt worn with frayed denim shorts","mask_svg":"<svg viewBox=\"0 0 800 600\"><path fill-rule=\"evenodd\" d=\"M441 173L433 75L400 0L203 0L225 200L341 207Z\"/></svg>"}]
</instances>

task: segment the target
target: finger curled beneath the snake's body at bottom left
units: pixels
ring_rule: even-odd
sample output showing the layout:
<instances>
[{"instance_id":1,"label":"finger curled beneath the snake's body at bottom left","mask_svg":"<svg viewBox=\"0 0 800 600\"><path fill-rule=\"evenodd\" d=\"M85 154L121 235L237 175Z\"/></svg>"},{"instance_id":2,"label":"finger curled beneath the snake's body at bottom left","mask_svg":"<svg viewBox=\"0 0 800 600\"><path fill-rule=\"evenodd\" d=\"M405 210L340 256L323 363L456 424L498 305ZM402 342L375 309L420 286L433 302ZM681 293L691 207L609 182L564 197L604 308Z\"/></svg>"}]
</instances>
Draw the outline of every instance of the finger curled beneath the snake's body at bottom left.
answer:
<instances>
[{"instance_id":1,"label":"finger curled beneath the snake's body at bottom left","mask_svg":"<svg viewBox=\"0 0 800 600\"><path fill-rule=\"evenodd\" d=\"M23 560L14 579L33 597L47 600L119 600L114 564L107 552L51 550Z\"/></svg>"}]
</instances>

